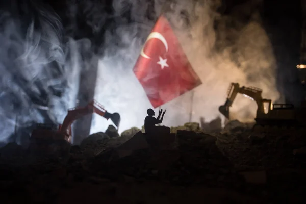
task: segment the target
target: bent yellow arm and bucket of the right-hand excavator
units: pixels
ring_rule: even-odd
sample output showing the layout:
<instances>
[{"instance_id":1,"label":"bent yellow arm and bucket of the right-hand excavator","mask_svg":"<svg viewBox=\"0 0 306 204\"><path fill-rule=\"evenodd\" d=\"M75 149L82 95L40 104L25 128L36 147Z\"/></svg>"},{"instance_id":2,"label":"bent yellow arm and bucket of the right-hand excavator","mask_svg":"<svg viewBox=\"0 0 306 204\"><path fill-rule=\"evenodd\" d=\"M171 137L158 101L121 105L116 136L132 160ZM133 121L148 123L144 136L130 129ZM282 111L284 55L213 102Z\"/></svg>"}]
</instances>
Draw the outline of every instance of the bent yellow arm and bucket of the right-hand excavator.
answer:
<instances>
[{"instance_id":1,"label":"bent yellow arm and bucket of the right-hand excavator","mask_svg":"<svg viewBox=\"0 0 306 204\"><path fill-rule=\"evenodd\" d=\"M219 111L227 119L230 119L230 107L232 106L238 93L243 96L251 98L254 100L258 106L258 112L264 112L264 106L262 104L262 90L256 87L240 87L238 83L231 83L227 90L227 98L225 104L219 107Z\"/></svg>"}]
</instances>

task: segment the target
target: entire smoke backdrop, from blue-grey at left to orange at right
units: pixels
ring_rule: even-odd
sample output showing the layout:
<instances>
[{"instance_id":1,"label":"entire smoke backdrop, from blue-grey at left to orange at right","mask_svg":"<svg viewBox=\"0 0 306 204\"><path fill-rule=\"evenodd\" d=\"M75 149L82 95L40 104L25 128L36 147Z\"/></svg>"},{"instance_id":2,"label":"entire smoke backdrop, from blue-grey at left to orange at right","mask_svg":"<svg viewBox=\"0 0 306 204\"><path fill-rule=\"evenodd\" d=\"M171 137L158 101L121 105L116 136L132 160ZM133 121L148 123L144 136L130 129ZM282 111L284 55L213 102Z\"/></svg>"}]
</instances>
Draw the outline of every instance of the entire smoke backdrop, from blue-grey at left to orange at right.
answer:
<instances>
[{"instance_id":1,"label":"entire smoke backdrop, from blue-grey at left to orange at right","mask_svg":"<svg viewBox=\"0 0 306 204\"><path fill-rule=\"evenodd\" d=\"M54 11L32 1L29 7L36 15L28 23L1 12L2 140L14 134L15 125L21 129L33 122L62 123L67 109L76 105L79 88L88 88L79 87L80 74L93 57L99 59L95 99L108 112L121 115L119 132L143 125L151 105L132 69L166 1L78 2L67 3L64 25ZM203 0L172 1L163 7L203 82L162 106L167 110L164 125L184 124L190 112L195 122L200 117L210 121L220 116L218 107L224 104L231 82L262 88L263 96L272 100L279 97L275 59L256 8L244 14L249 15L244 22L236 14L218 13L220 6L218 1ZM245 8L250 6L242 5L237 13ZM231 111L248 121L256 109L254 101L238 95ZM94 115L91 133L105 131L109 124Z\"/></svg>"}]
</instances>

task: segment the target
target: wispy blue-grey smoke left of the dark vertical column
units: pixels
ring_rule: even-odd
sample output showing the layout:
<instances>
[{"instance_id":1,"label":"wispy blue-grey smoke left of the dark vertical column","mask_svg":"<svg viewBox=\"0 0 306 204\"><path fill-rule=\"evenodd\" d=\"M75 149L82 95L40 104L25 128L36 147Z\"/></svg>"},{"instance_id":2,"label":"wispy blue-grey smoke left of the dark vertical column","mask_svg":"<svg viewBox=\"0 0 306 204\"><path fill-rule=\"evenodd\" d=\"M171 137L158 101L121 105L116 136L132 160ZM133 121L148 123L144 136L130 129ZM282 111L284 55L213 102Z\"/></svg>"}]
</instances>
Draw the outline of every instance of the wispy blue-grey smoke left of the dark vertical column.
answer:
<instances>
[{"instance_id":1,"label":"wispy blue-grey smoke left of the dark vertical column","mask_svg":"<svg viewBox=\"0 0 306 204\"><path fill-rule=\"evenodd\" d=\"M54 11L28 3L24 16L0 13L0 140L7 142L21 143L33 123L61 123L78 86L74 40L67 39L66 46ZM16 130L22 130L21 138Z\"/></svg>"}]
</instances>

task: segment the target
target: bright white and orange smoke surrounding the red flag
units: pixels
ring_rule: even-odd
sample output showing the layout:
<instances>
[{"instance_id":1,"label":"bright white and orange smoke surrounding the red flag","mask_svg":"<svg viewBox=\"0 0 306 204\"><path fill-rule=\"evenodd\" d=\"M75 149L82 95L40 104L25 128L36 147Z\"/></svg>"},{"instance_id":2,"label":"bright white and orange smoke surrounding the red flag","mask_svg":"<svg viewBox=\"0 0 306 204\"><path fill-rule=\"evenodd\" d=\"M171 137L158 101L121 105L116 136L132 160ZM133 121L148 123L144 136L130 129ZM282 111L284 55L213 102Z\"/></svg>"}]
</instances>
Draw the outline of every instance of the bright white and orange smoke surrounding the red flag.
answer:
<instances>
[{"instance_id":1,"label":"bright white and orange smoke surrounding the red flag","mask_svg":"<svg viewBox=\"0 0 306 204\"><path fill-rule=\"evenodd\" d=\"M155 20L163 3L155 1ZM113 1L115 15L120 15L126 5L132 7L131 18L136 22L117 27L116 36L106 36L106 42L116 39L116 44L108 45L105 53L108 53L108 49L116 52L100 59L95 92L96 98L107 109L121 114L120 131L132 126L141 127L146 109L151 108L132 68L155 20L146 17L145 11L149 7L146 1L138 4L135 1ZM191 121L195 122L199 122L200 117L206 121L222 117L218 107L224 104L231 82L261 88L263 97L272 101L279 98L275 59L257 5L241 5L236 11L239 14L246 8L253 9L253 12L244 14L249 15L247 22L242 21L245 16L221 15L216 12L220 6L218 1L172 1L172 4L164 7L189 61L202 80L202 85L193 91L162 106L167 110L163 122L165 125L188 122L190 112ZM140 7L140 13L136 12ZM254 101L238 94L231 108L231 116L245 122L253 121L256 110ZM108 124L96 116L91 132L106 129Z\"/></svg>"}]
</instances>

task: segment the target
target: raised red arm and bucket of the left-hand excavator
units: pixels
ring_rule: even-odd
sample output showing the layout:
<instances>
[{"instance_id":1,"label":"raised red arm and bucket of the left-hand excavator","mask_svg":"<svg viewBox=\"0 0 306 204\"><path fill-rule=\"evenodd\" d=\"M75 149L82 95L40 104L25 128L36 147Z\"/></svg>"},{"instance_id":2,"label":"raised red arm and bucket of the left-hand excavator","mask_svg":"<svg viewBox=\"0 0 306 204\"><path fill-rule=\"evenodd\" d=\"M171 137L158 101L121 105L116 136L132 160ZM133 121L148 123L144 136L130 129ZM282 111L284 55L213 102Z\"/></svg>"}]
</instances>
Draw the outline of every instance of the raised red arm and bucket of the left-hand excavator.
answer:
<instances>
[{"instance_id":1,"label":"raised red arm and bucket of the left-hand excavator","mask_svg":"<svg viewBox=\"0 0 306 204\"><path fill-rule=\"evenodd\" d=\"M71 135L70 125L73 123L73 121L92 113L97 113L107 120L111 119L118 129L120 123L120 115L118 113L111 114L107 112L101 104L99 104L96 100L92 100L85 107L68 109L68 114L65 117L63 124L60 126L59 131Z\"/></svg>"}]
</instances>

